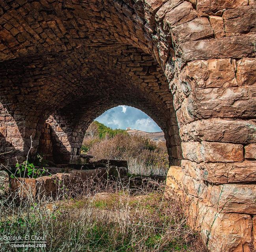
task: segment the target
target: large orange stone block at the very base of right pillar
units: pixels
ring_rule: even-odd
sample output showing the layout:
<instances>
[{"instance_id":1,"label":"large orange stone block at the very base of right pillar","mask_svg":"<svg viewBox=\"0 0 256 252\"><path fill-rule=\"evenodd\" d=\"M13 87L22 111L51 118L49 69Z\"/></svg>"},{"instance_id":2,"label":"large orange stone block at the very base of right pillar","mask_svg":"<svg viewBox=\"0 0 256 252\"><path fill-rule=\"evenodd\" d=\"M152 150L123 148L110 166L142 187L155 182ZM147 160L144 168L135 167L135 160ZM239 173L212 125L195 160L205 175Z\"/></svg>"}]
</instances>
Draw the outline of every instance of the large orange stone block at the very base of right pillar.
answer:
<instances>
[{"instance_id":1,"label":"large orange stone block at the very base of right pillar","mask_svg":"<svg viewBox=\"0 0 256 252\"><path fill-rule=\"evenodd\" d=\"M202 235L209 251L250 252L252 218L238 213L220 213L195 200L189 222Z\"/></svg>"}]
</instances>

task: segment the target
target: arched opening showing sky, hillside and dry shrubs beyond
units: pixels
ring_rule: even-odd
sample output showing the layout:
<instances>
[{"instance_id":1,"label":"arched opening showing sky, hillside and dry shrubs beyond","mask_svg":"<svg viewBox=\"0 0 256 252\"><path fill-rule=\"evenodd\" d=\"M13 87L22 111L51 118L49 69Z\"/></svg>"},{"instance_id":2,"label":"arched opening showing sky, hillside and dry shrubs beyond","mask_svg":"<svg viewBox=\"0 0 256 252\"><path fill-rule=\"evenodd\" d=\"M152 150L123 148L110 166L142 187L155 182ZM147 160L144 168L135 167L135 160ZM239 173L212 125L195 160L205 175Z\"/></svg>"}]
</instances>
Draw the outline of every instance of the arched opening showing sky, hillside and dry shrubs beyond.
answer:
<instances>
[{"instance_id":1,"label":"arched opening showing sky, hillside and dry shrubs beyond","mask_svg":"<svg viewBox=\"0 0 256 252\"><path fill-rule=\"evenodd\" d=\"M108 109L86 130L81 157L91 161L119 159L128 162L128 172L166 176L169 168L164 132L144 112L130 106Z\"/></svg>"}]
</instances>

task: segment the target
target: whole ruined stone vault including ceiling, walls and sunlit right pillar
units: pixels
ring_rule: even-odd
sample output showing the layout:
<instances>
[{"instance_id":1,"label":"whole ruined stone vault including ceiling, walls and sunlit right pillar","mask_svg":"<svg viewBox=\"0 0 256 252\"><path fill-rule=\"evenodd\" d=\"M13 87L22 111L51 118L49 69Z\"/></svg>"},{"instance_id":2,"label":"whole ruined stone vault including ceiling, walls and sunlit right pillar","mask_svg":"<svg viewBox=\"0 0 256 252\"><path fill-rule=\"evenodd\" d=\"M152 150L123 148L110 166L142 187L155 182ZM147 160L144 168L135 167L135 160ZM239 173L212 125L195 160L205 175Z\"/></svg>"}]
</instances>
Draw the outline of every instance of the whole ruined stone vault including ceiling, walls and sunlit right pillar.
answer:
<instances>
[{"instance_id":1,"label":"whole ruined stone vault including ceiling, walls and sunlit right pillar","mask_svg":"<svg viewBox=\"0 0 256 252\"><path fill-rule=\"evenodd\" d=\"M31 155L47 149L74 162L93 119L137 107L164 131L169 174L209 250L254 250L255 0L0 6L2 161L24 159L32 136Z\"/></svg>"}]
</instances>

